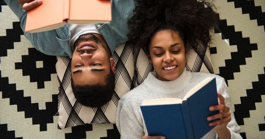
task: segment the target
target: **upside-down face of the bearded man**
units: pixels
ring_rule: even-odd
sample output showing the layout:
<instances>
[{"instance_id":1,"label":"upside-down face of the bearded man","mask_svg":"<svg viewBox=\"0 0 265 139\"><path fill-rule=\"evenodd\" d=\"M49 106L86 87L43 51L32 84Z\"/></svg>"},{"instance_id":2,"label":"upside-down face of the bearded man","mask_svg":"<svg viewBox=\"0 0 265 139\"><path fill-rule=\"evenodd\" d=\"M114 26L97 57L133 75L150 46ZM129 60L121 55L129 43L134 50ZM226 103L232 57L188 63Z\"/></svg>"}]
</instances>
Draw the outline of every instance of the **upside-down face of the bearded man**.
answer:
<instances>
[{"instance_id":1,"label":"upside-down face of the bearded man","mask_svg":"<svg viewBox=\"0 0 265 139\"><path fill-rule=\"evenodd\" d=\"M74 85L103 84L110 69L115 74L113 58L109 58L108 46L97 33L80 35L75 42L71 63Z\"/></svg>"}]
</instances>

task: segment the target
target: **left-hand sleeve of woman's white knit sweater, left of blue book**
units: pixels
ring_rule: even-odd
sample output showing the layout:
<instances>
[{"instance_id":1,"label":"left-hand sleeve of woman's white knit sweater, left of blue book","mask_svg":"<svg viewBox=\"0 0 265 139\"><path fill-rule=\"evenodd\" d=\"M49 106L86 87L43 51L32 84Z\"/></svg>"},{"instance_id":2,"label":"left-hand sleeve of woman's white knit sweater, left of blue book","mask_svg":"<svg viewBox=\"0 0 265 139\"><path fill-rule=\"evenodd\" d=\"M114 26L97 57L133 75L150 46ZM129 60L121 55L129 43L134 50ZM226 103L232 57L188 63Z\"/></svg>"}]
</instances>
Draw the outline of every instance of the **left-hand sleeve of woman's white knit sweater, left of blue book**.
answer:
<instances>
[{"instance_id":1,"label":"left-hand sleeve of woman's white knit sweater, left of blue book","mask_svg":"<svg viewBox=\"0 0 265 139\"><path fill-rule=\"evenodd\" d=\"M120 99L116 114L116 125L121 139L140 139L144 135L140 107L125 99ZM137 104L138 105L138 104ZM139 109L138 109L139 108Z\"/></svg>"}]
</instances>

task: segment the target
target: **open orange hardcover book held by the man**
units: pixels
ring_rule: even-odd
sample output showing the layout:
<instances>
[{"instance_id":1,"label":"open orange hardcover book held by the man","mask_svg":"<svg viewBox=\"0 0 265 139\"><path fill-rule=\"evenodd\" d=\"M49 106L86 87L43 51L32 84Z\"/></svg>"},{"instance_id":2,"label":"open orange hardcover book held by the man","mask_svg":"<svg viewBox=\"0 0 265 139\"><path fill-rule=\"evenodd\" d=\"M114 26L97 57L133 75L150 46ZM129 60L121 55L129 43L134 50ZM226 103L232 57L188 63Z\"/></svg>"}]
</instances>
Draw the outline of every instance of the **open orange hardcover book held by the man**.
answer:
<instances>
[{"instance_id":1,"label":"open orange hardcover book held by the man","mask_svg":"<svg viewBox=\"0 0 265 139\"><path fill-rule=\"evenodd\" d=\"M66 22L84 25L109 21L109 0L42 0L40 6L28 11L25 31L49 31Z\"/></svg>"}]
</instances>

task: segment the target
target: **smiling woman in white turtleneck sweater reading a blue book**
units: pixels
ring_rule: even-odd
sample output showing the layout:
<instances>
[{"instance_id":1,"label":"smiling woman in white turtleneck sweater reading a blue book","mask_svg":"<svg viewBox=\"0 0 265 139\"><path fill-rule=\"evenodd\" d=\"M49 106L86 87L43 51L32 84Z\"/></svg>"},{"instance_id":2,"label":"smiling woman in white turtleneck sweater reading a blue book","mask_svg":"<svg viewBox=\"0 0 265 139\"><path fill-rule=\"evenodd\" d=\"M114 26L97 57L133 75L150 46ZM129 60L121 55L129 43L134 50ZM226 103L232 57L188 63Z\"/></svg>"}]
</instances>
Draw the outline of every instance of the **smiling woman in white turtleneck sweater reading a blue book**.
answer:
<instances>
[{"instance_id":1,"label":"smiling woman in white turtleneck sweater reading a blue book","mask_svg":"<svg viewBox=\"0 0 265 139\"><path fill-rule=\"evenodd\" d=\"M121 138L149 137L142 118L140 104L145 99L180 98L207 77L215 77L219 105L209 107L219 114L207 118L215 126L203 138L242 138L239 135L230 94L224 79L218 75L191 73L185 63L189 46L210 43L209 30L218 21L211 4L200 0L142 0L128 21L129 40L136 46L146 46L147 58L155 72L150 72L144 82L126 93L118 103L116 124ZM159 112L158 112L159 113ZM176 131L177 132L177 131Z\"/></svg>"}]
</instances>

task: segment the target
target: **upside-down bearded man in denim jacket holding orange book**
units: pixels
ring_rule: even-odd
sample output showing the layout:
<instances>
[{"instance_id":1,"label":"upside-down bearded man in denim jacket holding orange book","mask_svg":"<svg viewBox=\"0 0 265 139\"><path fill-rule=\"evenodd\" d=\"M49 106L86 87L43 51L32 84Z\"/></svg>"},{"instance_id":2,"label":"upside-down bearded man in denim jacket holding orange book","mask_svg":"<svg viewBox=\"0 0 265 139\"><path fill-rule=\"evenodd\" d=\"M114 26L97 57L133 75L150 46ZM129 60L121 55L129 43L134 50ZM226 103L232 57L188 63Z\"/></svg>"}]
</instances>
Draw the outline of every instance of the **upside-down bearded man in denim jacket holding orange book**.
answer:
<instances>
[{"instance_id":1,"label":"upside-down bearded man in denim jacket holding orange book","mask_svg":"<svg viewBox=\"0 0 265 139\"><path fill-rule=\"evenodd\" d=\"M42 4L41 0L4 1L21 21L23 31L26 11ZM136 2L111 0L112 21L106 24L67 24L51 31L24 32L24 35L38 51L46 55L70 56L71 85L75 98L85 106L100 107L112 98L115 65L111 55L116 46L127 41L127 20Z\"/></svg>"}]
</instances>

